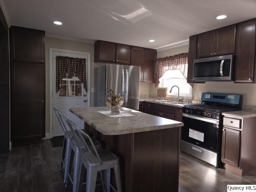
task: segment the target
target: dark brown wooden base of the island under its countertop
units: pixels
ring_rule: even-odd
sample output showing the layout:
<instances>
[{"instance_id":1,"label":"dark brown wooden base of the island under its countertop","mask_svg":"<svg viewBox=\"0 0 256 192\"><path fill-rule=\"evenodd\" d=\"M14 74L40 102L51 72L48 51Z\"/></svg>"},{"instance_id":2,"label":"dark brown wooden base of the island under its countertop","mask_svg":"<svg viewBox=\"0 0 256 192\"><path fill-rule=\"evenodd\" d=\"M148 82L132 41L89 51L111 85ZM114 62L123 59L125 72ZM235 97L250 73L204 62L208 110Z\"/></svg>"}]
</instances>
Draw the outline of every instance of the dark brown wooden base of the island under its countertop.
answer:
<instances>
[{"instance_id":1,"label":"dark brown wooden base of the island under its countertop","mask_svg":"<svg viewBox=\"0 0 256 192\"><path fill-rule=\"evenodd\" d=\"M123 192L178 192L179 127L122 135L103 135L88 124L85 130L119 157Z\"/></svg>"}]
</instances>

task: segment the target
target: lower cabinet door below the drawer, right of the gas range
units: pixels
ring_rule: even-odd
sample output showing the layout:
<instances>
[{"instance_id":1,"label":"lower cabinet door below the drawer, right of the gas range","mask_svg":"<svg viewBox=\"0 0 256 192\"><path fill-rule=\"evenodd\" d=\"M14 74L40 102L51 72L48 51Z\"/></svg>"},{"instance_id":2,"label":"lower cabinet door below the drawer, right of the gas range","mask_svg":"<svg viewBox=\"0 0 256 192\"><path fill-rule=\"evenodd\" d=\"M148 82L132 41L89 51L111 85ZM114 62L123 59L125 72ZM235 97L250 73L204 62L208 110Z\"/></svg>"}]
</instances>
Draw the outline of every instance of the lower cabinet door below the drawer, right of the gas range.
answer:
<instances>
[{"instance_id":1,"label":"lower cabinet door below the drawer, right of the gas range","mask_svg":"<svg viewBox=\"0 0 256 192\"><path fill-rule=\"evenodd\" d=\"M239 166L241 131L223 128L221 160L232 166Z\"/></svg>"}]
</instances>

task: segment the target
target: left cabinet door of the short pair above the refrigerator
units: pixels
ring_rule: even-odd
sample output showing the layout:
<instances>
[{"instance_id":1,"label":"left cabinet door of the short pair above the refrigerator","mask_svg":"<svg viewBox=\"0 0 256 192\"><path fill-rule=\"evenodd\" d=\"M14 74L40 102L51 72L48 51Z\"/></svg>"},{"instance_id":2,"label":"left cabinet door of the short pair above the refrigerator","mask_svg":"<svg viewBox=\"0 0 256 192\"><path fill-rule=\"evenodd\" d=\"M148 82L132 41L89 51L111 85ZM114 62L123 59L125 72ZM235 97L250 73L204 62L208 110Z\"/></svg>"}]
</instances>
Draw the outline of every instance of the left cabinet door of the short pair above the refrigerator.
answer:
<instances>
[{"instance_id":1,"label":"left cabinet door of the short pair above the refrigerator","mask_svg":"<svg viewBox=\"0 0 256 192\"><path fill-rule=\"evenodd\" d=\"M116 62L116 44L108 41L98 42L99 61Z\"/></svg>"}]
</instances>

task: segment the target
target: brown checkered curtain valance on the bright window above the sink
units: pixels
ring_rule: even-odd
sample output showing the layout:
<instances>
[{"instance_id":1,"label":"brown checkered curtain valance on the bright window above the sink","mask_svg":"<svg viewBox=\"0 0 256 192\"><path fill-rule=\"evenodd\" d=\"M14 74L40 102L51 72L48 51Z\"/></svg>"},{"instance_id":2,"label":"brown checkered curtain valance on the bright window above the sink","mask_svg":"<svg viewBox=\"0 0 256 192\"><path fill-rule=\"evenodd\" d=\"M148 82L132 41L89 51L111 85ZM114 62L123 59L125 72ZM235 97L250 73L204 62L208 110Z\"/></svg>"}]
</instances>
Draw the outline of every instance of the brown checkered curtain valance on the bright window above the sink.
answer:
<instances>
[{"instance_id":1,"label":"brown checkered curtain valance on the bright window above the sink","mask_svg":"<svg viewBox=\"0 0 256 192\"><path fill-rule=\"evenodd\" d=\"M185 78L188 76L188 53L180 53L174 56L157 58L156 60L156 84L160 83L159 79L164 75L166 70L179 69Z\"/></svg>"}]
</instances>

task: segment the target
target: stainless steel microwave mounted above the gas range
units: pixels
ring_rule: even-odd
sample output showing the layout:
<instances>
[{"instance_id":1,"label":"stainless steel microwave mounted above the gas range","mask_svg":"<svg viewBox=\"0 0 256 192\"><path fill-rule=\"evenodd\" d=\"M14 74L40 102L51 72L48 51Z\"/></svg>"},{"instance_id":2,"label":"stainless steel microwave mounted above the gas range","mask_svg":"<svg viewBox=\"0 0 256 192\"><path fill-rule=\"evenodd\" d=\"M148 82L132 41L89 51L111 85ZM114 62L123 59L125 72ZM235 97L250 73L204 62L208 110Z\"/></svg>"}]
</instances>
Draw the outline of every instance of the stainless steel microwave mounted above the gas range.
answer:
<instances>
[{"instance_id":1,"label":"stainless steel microwave mounted above the gas range","mask_svg":"<svg viewBox=\"0 0 256 192\"><path fill-rule=\"evenodd\" d=\"M193 80L232 81L233 55L195 59Z\"/></svg>"}]
</instances>

